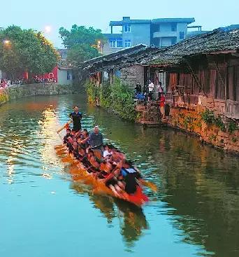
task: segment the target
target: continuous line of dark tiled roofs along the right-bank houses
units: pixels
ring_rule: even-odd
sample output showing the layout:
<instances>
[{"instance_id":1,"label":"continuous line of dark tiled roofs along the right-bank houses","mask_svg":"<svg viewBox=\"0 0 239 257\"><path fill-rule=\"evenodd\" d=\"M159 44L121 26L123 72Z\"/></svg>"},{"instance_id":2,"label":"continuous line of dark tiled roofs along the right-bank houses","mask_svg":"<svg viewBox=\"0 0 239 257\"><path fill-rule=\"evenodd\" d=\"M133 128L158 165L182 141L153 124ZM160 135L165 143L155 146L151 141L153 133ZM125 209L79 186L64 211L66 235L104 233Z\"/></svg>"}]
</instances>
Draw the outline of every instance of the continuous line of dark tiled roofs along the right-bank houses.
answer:
<instances>
[{"instance_id":1,"label":"continuous line of dark tiled roofs along the right-bank houses","mask_svg":"<svg viewBox=\"0 0 239 257\"><path fill-rule=\"evenodd\" d=\"M236 52L239 52L239 25L232 25L185 39L167 48L145 45L126 48L83 62L79 68L94 74L135 64L173 67L184 64L187 57L191 56Z\"/></svg>"}]
</instances>

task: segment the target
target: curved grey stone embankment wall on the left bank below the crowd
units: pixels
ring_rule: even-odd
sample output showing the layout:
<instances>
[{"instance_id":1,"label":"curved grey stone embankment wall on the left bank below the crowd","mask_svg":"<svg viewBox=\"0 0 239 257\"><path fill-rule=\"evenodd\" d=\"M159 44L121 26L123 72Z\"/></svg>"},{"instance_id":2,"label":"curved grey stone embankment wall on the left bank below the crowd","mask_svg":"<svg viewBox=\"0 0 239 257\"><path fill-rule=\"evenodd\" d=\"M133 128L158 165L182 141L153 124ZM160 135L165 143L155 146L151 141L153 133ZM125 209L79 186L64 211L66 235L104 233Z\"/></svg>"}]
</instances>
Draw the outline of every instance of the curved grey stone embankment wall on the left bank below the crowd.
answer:
<instances>
[{"instance_id":1,"label":"curved grey stone embankment wall on the left bank below the crowd","mask_svg":"<svg viewBox=\"0 0 239 257\"><path fill-rule=\"evenodd\" d=\"M73 85L59 85L57 83L38 83L27 85L11 85L0 89L0 106L12 99L34 95L65 95L74 92Z\"/></svg>"}]
</instances>

